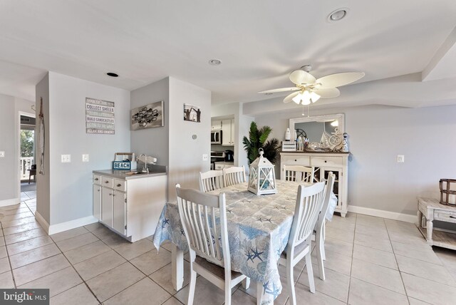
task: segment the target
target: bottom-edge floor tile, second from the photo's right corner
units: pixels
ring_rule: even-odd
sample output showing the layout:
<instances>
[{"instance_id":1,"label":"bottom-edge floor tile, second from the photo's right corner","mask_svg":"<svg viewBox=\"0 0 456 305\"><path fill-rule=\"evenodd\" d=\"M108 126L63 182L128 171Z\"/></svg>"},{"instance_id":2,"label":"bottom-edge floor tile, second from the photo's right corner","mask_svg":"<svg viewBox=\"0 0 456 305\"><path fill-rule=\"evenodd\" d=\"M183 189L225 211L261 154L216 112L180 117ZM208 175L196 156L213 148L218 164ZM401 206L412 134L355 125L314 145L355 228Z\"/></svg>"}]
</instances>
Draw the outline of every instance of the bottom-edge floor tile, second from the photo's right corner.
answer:
<instances>
[{"instance_id":1,"label":"bottom-edge floor tile, second from the photo's right corner","mask_svg":"<svg viewBox=\"0 0 456 305\"><path fill-rule=\"evenodd\" d=\"M407 296L351 278L348 304L351 305L408 305Z\"/></svg>"}]
</instances>

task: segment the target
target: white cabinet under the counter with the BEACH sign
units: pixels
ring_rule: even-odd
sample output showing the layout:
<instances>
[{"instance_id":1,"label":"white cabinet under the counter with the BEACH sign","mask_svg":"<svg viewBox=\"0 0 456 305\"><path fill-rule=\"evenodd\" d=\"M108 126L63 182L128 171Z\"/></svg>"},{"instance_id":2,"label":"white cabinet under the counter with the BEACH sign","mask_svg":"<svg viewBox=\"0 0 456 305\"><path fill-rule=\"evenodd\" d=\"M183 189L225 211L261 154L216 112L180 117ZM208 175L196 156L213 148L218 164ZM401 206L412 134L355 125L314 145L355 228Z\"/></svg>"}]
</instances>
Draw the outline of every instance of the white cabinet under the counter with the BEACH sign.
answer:
<instances>
[{"instance_id":1,"label":"white cabinet under the counter with the BEACH sign","mask_svg":"<svg viewBox=\"0 0 456 305\"><path fill-rule=\"evenodd\" d=\"M93 171L93 216L130 242L155 233L166 203L166 172Z\"/></svg>"}]
</instances>

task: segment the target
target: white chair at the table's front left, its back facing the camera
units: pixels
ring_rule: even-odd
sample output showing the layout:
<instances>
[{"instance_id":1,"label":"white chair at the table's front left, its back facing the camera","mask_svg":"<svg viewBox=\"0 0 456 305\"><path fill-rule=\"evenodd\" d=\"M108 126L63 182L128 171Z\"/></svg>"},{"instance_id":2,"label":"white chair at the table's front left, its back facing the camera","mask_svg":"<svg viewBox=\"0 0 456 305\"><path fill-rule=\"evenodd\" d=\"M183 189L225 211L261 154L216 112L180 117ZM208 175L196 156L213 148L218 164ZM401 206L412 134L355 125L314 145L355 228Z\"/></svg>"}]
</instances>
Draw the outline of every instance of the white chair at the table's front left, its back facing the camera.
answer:
<instances>
[{"instance_id":1,"label":"white chair at the table's front left, its back facing the camera","mask_svg":"<svg viewBox=\"0 0 456 305\"><path fill-rule=\"evenodd\" d=\"M190 289L187 305L193 304L197 273L225 291L225 304L231 304L232 288L242 280L249 287L249 278L231 269L228 244L225 195L209 195L176 185L180 221L190 253ZM220 228L216 214L219 210ZM221 236L219 239L218 236Z\"/></svg>"}]
</instances>

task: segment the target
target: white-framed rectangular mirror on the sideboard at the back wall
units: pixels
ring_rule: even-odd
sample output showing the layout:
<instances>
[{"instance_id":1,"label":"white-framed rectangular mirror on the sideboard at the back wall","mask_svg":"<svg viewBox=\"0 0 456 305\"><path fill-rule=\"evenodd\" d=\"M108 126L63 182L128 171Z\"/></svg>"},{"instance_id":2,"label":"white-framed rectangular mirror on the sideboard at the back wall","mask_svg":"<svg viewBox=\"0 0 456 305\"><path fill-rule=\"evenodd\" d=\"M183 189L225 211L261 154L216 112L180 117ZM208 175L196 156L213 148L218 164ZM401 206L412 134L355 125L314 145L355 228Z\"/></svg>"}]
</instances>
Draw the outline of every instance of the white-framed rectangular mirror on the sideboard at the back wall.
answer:
<instances>
[{"instance_id":1,"label":"white-framed rectangular mirror on the sideboard at the back wall","mask_svg":"<svg viewBox=\"0 0 456 305\"><path fill-rule=\"evenodd\" d=\"M317 115L290 119L291 140L296 140L298 150L338 150L343 145L345 115ZM301 139L300 139L301 137ZM300 146L300 141L303 141Z\"/></svg>"}]
</instances>

